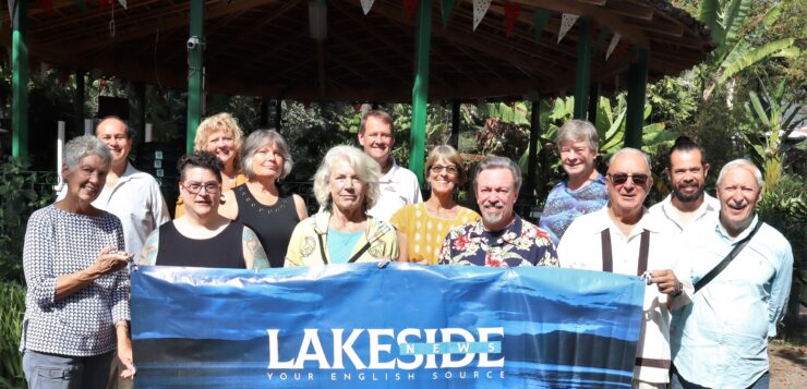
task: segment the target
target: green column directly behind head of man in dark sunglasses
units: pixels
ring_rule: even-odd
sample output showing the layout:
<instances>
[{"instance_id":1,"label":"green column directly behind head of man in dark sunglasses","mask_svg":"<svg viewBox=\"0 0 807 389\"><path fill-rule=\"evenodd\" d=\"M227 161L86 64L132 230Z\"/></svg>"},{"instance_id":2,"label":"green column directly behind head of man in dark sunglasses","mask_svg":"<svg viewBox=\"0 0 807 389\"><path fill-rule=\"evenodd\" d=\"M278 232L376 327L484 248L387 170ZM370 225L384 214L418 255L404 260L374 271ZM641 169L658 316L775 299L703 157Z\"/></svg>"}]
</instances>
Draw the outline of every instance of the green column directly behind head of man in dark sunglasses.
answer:
<instances>
[{"instance_id":1,"label":"green column directly behind head of man in dark sunglasses","mask_svg":"<svg viewBox=\"0 0 807 389\"><path fill-rule=\"evenodd\" d=\"M628 70L628 107L625 112L625 146L641 148L645 127L645 94L648 86L648 51L640 49Z\"/></svg>"}]
</instances>

